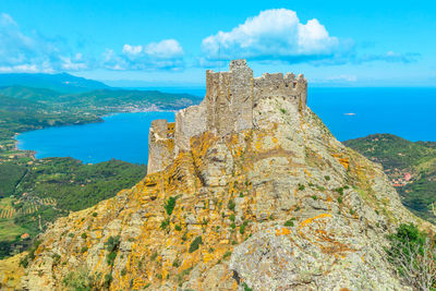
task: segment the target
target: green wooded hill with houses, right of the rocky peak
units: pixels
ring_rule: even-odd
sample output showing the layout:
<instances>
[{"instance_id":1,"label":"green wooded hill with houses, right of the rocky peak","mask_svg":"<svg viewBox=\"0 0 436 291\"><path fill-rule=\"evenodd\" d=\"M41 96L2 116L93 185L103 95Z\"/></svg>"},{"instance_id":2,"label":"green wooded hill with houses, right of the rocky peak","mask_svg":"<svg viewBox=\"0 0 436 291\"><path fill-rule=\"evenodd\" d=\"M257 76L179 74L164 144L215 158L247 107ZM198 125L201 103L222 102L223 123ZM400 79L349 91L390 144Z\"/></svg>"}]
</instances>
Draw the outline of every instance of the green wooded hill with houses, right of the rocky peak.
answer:
<instances>
[{"instance_id":1,"label":"green wooded hill with houses, right of the rocky peak","mask_svg":"<svg viewBox=\"0 0 436 291\"><path fill-rule=\"evenodd\" d=\"M382 163L403 204L420 217L436 222L436 143L374 134L344 144Z\"/></svg>"}]
</instances>

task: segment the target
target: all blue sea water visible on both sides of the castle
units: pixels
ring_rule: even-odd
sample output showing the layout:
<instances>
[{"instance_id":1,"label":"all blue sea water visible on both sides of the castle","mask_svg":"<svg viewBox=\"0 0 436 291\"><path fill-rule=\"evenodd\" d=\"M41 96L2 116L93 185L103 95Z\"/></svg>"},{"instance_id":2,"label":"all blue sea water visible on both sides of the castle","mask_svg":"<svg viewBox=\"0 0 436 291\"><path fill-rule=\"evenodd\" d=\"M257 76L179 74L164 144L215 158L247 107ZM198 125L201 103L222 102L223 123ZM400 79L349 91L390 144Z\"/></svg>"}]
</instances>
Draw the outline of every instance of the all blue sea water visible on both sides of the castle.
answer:
<instances>
[{"instance_id":1,"label":"all blue sea water visible on both sides of the castle","mask_svg":"<svg viewBox=\"0 0 436 291\"><path fill-rule=\"evenodd\" d=\"M158 88L204 96L201 88ZM310 88L308 106L339 141L392 133L410 141L436 141L436 88ZM174 120L172 112L120 113L104 123L26 132L20 149L37 158L73 157L84 162L111 158L146 163L152 120Z\"/></svg>"}]
</instances>

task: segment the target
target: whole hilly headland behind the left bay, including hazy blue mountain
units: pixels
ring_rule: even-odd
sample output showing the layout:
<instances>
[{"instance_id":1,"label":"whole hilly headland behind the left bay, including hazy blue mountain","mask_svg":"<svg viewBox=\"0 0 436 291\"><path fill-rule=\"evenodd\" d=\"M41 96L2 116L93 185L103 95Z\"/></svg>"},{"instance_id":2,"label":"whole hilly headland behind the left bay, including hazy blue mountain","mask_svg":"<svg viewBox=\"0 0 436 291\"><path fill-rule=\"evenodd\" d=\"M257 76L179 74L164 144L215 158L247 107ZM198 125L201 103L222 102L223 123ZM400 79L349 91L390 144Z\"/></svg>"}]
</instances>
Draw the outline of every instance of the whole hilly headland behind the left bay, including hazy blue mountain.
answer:
<instances>
[{"instance_id":1,"label":"whole hilly headland behind the left bay, including hazy blue mountain","mask_svg":"<svg viewBox=\"0 0 436 291\"><path fill-rule=\"evenodd\" d=\"M95 122L114 112L179 110L199 101L189 94L119 89L65 73L0 74L0 147L24 131Z\"/></svg>"}]
</instances>

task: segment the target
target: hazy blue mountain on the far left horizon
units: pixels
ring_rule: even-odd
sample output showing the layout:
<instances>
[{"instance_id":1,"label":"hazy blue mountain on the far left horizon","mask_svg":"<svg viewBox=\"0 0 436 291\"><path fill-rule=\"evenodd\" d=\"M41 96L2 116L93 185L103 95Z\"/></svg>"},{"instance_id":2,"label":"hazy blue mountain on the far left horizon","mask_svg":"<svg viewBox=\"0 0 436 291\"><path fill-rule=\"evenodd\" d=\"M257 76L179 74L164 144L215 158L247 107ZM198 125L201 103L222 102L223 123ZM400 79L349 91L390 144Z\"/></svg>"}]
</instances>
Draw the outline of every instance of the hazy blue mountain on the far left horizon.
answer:
<instances>
[{"instance_id":1,"label":"hazy blue mountain on the far left horizon","mask_svg":"<svg viewBox=\"0 0 436 291\"><path fill-rule=\"evenodd\" d=\"M60 93L84 93L94 89L108 89L105 83L73 76L68 73L60 74L0 74L0 87L24 86L34 88L46 88Z\"/></svg>"}]
</instances>

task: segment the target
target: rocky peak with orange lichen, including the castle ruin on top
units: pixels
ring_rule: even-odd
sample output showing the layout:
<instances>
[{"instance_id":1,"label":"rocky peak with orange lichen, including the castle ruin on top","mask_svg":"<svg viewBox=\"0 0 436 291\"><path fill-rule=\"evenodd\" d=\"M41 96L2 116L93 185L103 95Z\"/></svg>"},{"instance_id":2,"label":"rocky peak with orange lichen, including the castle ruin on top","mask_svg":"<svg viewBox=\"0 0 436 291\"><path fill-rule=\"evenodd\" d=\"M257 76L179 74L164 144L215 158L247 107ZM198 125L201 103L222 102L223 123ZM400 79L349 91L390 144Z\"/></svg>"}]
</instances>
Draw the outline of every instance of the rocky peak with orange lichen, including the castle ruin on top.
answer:
<instances>
[{"instance_id":1,"label":"rocky peak with orange lichen, including the castle ruin on top","mask_svg":"<svg viewBox=\"0 0 436 291\"><path fill-rule=\"evenodd\" d=\"M311 111L306 80L243 60L206 76L199 106L153 123L149 174L53 223L23 288L408 290L386 234L431 226Z\"/></svg>"}]
</instances>

